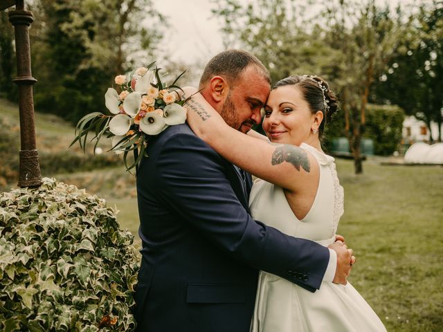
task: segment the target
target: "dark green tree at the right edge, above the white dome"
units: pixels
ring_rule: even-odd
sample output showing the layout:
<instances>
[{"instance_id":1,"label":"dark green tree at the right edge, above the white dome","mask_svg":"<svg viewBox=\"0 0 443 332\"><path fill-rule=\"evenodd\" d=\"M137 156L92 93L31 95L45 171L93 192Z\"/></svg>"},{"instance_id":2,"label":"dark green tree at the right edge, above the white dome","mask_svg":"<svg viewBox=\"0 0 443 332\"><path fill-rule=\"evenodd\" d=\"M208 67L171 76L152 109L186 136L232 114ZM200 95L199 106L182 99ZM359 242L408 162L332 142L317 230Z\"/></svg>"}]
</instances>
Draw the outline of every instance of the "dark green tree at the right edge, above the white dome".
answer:
<instances>
[{"instance_id":1,"label":"dark green tree at the right edge, above the white dome","mask_svg":"<svg viewBox=\"0 0 443 332\"><path fill-rule=\"evenodd\" d=\"M422 4L410 19L404 46L389 62L386 75L376 82L371 99L398 104L424 121L430 132L431 121L437 122L438 141L442 142L443 3Z\"/></svg>"}]
</instances>

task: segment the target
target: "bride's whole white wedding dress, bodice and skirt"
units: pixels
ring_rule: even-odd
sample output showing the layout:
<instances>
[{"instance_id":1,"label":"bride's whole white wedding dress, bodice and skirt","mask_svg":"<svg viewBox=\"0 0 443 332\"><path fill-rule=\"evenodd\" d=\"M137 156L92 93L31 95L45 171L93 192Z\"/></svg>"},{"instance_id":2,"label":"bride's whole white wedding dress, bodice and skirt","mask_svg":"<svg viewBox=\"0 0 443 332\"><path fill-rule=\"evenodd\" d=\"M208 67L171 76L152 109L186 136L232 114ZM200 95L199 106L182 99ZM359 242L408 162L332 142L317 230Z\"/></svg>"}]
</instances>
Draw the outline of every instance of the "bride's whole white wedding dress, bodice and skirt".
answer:
<instances>
[{"instance_id":1,"label":"bride's whole white wedding dress, bodice and skirt","mask_svg":"<svg viewBox=\"0 0 443 332\"><path fill-rule=\"evenodd\" d=\"M308 214L298 220L281 187L257 180L249 201L255 220L278 230L329 246L334 241L338 220L343 214L343 187L338 183L334 158L302 144L320 165L320 181ZM289 331L386 331L365 299L346 286L323 282L311 293L286 279L260 272L253 332Z\"/></svg>"}]
</instances>

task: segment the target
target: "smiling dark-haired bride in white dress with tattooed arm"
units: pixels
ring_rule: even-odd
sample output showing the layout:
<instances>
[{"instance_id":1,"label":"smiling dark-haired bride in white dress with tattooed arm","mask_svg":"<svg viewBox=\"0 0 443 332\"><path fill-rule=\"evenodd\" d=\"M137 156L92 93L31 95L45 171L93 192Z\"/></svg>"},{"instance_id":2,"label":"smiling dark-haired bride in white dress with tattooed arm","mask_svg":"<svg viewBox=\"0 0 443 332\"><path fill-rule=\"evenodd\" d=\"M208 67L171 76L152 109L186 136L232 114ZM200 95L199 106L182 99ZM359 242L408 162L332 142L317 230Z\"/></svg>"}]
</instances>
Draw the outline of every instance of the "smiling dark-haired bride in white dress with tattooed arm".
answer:
<instances>
[{"instance_id":1,"label":"smiling dark-haired bride in white dress with tattooed arm","mask_svg":"<svg viewBox=\"0 0 443 332\"><path fill-rule=\"evenodd\" d=\"M249 201L254 219L324 246L334 242L343 214L343 187L334 158L320 146L325 124L337 109L327 82L309 75L277 82L264 107L267 138L229 127L199 93L192 97L196 103L207 116L188 108L192 130L221 156L258 177ZM251 331L386 329L349 283L323 282L319 291L311 293L262 271Z\"/></svg>"}]
</instances>

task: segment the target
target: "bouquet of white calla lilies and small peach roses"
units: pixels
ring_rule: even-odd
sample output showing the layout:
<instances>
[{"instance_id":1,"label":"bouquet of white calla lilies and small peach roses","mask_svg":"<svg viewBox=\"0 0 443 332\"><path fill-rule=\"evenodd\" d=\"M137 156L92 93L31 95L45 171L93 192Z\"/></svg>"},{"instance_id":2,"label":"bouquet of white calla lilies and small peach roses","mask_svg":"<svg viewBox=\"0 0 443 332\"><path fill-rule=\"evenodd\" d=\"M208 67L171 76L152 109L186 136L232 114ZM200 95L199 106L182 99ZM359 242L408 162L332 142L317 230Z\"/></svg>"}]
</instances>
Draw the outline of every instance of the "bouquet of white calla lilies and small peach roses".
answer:
<instances>
[{"instance_id":1,"label":"bouquet of white calla lilies and small peach roses","mask_svg":"<svg viewBox=\"0 0 443 332\"><path fill-rule=\"evenodd\" d=\"M91 141L96 140L94 151L100 139L112 138L111 149L123 154L126 169L136 167L143 156L147 156L147 142L163 130L174 124L186 121L186 109L181 98L181 88L176 85L181 73L171 85L161 82L160 68L152 62L129 75L117 75L114 88L107 89L105 105L110 115L100 112L89 113L75 126L75 139L70 147L79 142L85 151L87 136L95 133ZM128 165L127 156L134 151L134 163Z\"/></svg>"}]
</instances>

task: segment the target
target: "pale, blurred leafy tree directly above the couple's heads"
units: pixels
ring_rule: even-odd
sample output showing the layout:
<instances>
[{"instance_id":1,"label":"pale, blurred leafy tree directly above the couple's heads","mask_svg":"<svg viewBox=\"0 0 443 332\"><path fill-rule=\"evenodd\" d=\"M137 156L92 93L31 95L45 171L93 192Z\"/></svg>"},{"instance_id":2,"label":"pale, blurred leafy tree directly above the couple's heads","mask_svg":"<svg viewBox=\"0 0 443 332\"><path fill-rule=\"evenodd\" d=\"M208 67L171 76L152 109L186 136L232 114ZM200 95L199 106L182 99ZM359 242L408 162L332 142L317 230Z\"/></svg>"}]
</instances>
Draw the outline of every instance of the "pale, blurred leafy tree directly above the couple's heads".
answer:
<instances>
[{"instance_id":1,"label":"pale, blurred leafy tree directly above the couple's heads","mask_svg":"<svg viewBox=\"0 0 443 332\"><path fill-rule=\"evenodd\" d=\"M269 69L276 82L296 73L320 73L327 49L323 28L308 15L307 4L287 0L213 1L222 21L225 46L246 48Z\"/></svg>"}]
</instances>

